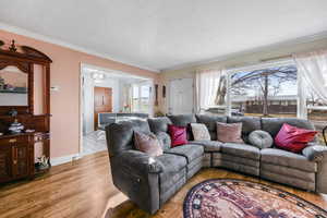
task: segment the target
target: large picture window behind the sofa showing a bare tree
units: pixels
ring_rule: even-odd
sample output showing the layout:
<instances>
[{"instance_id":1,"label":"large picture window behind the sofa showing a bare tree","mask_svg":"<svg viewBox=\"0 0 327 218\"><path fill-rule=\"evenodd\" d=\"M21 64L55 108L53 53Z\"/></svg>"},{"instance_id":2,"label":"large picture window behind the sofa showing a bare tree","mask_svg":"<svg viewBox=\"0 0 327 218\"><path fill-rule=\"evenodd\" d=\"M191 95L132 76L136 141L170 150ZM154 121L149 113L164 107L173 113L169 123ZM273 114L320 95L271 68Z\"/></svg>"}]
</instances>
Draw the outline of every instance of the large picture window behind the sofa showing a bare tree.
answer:
<instances>
[{"instance_id":1,"label":"large picture window behind the sofa showing a bare tree","mask_svg":"<svg viewBox=\"0 0 327 218\"><path fill-rule=\"evenodd\" d=\"M327 100L317 96L304 78L298 78L298 68L293 61L264 68L252 66L251 70L229 70L226 74L216 73L214 77L209 73L203 73L202 76L203 87L199 88L206 90L203 92L204 96L209 96L206 98L208 102L203 104L207 107L205 112L307 118L323 142L322 130L327 125Z\"/></svg>"}]
</instances>

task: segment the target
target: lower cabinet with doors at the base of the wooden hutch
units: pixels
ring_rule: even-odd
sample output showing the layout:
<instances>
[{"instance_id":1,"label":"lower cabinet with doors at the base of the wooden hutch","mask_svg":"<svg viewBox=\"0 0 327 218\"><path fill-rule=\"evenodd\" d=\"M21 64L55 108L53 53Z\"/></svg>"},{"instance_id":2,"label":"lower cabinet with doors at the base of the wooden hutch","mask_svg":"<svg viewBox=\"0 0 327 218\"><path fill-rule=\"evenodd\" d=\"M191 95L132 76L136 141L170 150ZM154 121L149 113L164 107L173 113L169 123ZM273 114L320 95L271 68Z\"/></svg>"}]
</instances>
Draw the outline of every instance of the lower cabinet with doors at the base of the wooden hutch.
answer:
<instances>
[{"instance_id":1,"label":"lower cabinet with doors at the base of the wooden hutch","mask_svg":"<svg viewBox=\"0 0 327 218\"><path fill-rule=\"evenodd\" d=\"M34 174L33 146L32 135L7 136L0 140L0 182Z\"/></svg>"}]
</instances>

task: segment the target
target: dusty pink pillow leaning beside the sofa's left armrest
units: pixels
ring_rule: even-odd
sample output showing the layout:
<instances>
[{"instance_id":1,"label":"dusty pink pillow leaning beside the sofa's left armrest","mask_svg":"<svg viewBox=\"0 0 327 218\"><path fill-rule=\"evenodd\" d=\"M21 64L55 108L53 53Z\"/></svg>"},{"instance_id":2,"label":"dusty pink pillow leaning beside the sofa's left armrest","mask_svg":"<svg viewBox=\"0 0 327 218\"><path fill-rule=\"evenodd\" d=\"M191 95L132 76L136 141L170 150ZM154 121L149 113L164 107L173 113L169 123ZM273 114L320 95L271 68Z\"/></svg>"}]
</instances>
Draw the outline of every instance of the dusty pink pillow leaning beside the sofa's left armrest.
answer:
<instances>
[{"instance_id":1,"label":"dusty pink pillow leaning beside the sofa's left armrest","mask_svg":"<svg viewBox=\"0 0 327 218\"><path fill-rule=\"evenodd\" d=\"M134 142L136 149L140 152L146 153L152 157L162 155L160 142L153 133L147 135L141 132L134 132Z\"/></svg>"}]
</instances>

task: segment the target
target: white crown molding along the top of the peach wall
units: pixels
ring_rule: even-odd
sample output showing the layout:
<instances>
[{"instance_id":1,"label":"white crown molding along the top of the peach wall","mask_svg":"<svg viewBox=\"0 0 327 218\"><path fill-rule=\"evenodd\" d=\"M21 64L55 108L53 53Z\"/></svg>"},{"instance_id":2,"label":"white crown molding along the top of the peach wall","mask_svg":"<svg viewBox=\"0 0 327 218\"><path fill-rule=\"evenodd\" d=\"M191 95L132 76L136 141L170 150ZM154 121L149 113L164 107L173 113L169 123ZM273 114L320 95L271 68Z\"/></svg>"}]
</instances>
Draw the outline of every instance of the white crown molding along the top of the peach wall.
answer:
<instances>
[{"instance_id":1,"label":"white crown molding along the top of the peach wall","mask_svg":"<svg viewBox=\"0 0 327 218\"><path fill-rule=\"evenodd\" d=\"M109 59L111 61L120 62L120 63L123 63L123 64L126 64L126 65L140 68L140 69L147 70L147 71L153 71L155 73L160 73L160 70L158 70L158 69L153 69L153 68L148 68L148 66L145 66L145 65L140 65L140 64L133 63L131 61L116 59L116 58L112 58L112 57L110 57L109 55L106 55L106 53L101 53L101 52L97 52L97 51L94 51L94 50L90 50L90 49L86 49L86 48L83 48L81 46L76 46L76 45L73 45L73 44L70 44L70 43L65 43L63 40L56 39L56 38L45 36L45 35L41 35L41 34L37 34L35 32L31 32L31 31L27 31L27 29L24 29L24 28L21 28L21 27L17 27L17 26L9 25L9 24L5 24L3 22L0 22L0 29L5 31L5 32L10 32L10 33L14 33L14 34L19 34L19 35L22 35L22 36L31 37L31 38L34 38L34 39L37 39L37 40L43 40L43 41L46 41L46 43L50 43L50 44L53 44L53 45L57 45L57 46L62 46L62 47L65 47L65 48L70 48L72 50L88 53L88 55L96 56L96 57L99 57L99 58Z\"/></svg>"}]
</instances>

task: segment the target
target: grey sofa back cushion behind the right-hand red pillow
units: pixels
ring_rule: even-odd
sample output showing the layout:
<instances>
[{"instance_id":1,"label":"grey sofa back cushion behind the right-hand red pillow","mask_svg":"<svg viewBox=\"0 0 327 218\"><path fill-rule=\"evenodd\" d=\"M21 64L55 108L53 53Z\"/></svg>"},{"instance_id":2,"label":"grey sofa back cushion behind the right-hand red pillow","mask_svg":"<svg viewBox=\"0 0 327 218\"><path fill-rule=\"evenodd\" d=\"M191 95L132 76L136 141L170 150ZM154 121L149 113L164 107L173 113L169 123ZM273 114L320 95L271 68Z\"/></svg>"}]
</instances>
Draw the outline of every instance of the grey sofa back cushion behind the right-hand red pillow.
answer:
<instances>
[{"instance_id":1,"label":"grey sofa back cushion behind the right-hand red pillow","mask_svg":"<svg viewBox=\"0 0 327 218\"><path fill-rule=\"evenodd\" d=\"M271 137L275 138L277 133L280 131L283 123L302 128L306 130L315 130L315 126L307 120L296 118L262 118L262 129L270 133Z\"/></svg>"}]
</instances>

